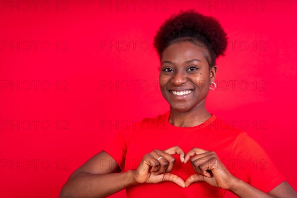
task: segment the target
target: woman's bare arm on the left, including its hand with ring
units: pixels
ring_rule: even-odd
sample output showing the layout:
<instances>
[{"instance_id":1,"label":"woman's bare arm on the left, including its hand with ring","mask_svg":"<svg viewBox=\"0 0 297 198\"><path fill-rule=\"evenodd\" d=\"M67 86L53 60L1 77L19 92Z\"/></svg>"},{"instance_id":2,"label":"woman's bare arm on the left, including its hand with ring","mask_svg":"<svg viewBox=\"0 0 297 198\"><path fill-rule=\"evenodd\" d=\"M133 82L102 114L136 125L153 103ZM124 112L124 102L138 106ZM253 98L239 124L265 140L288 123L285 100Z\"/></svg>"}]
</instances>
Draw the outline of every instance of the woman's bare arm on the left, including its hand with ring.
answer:
<instances>
[{"instance_id":1,"label":"woman's bare arm on the left, including its hand with ring","mask_svg":"<svg viewBox=\"0 0 297 198\"><path fill-rule=\"evenodd\" d=\"M163 181L185 187L183 179L170 173L175 162L172 155L176 153L184 159L185 153L179 147L153 150L144 155L136 170L120 172L116 161L101 151L70 176L60 197L107 197L129 186Z\"/></svg>"}]
</instances>

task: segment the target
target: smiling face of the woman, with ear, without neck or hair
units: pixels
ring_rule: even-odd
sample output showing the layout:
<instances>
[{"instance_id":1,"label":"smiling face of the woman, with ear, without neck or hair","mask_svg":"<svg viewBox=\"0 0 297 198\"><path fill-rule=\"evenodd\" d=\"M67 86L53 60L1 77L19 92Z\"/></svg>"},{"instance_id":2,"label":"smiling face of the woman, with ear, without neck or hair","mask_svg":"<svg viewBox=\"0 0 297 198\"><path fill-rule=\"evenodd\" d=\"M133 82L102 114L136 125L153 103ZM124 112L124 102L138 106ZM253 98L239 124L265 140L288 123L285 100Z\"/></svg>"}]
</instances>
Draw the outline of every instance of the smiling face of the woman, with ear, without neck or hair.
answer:
<instances>
[{"instance_id":1,"label":"smiling face of the woman, with ear, without neck or hair","mask_svg":"<svg viewBox=\"0 0 297 198\"><path fill-rule=\"evenodd\" d=\"M209 53L191 42L168 46L162 53L159 82L171 108L186 112L204 106L216 67L209 70Z\"/></svg>"}]
</instances>

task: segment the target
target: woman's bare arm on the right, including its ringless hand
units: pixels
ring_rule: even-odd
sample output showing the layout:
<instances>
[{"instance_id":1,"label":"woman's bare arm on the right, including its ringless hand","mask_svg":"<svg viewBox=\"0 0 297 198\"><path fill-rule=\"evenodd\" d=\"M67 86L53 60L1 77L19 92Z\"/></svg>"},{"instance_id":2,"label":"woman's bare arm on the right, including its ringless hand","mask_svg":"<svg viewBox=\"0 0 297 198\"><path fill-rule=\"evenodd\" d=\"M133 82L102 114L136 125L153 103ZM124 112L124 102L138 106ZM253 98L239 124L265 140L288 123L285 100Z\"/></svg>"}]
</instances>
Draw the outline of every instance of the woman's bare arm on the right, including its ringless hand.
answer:
<instances>
[{"instance_id":1,"label":"woman's bare arm on the right, including its ringless hand","mask_svg":"<svg viewBox=\"0 0 297 198\"><path fill-rule=\"evenodd\" d=\"M296 198L296 192L287 182L281 183L266 194L236 178L228 171L213 151L193 148L186 154L184 163L187 163L190 158L197 174L191 175L186 180L186 187L194 182L203 181L212 186L226 189L241 198Z\"/></svg>"}]
</instances>

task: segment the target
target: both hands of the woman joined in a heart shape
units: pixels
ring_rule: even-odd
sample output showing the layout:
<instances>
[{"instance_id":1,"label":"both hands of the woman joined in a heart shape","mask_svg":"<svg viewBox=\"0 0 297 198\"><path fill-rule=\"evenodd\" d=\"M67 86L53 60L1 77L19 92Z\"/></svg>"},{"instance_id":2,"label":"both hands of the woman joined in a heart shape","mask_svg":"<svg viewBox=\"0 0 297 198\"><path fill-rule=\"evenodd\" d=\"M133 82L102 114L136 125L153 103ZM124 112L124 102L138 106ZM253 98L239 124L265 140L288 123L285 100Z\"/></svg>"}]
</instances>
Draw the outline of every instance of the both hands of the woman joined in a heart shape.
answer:
<instances>
[{"instance_id":1,"label":"both hands of the woman joined in a heart shape","mask_svg":"<svg viewBox=\"0 0 297 198\"><path fill-rule=\"evenodd\" d=\"M183 163L188 163L190 160L197 174L191 175L186 181L171 174L175 162L172 156L174 154L179 154ZM227 170L214 151L193 148L185 154L178 146L166 150L156 149L146 154L133 175L136 183L155 184L170 181L185 188L195 182L207 182L214 187L227 190L232 188L237 179Z\"/></svg>"}]
</instances>

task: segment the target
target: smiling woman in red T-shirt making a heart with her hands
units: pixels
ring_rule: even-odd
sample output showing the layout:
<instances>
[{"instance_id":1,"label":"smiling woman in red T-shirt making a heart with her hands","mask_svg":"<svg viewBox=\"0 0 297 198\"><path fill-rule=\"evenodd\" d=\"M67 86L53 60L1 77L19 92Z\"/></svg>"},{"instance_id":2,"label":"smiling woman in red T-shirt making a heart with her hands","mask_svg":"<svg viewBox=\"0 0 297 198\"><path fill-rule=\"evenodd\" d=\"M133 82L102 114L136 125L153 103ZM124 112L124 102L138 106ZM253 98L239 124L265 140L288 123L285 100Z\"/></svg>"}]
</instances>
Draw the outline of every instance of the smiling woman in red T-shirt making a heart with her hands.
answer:
<instances>
[{"instance_id":1,"label":"smiling woman in red T-shirt making a heart with her hands","mask_svg":"<svg viewBox=\"0 0 297 198\"><path fill-rule=\"evenodd\" d=\"M247 133L205 108L226 33L194 10L158 30L159 82L170 111L122 130L69 178L60 197L296 197L265 151ZM260 163L255 167L253 163Z\"/></svg>"}]
</instances>

